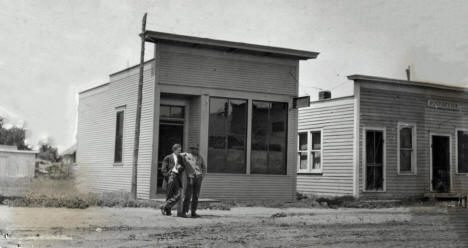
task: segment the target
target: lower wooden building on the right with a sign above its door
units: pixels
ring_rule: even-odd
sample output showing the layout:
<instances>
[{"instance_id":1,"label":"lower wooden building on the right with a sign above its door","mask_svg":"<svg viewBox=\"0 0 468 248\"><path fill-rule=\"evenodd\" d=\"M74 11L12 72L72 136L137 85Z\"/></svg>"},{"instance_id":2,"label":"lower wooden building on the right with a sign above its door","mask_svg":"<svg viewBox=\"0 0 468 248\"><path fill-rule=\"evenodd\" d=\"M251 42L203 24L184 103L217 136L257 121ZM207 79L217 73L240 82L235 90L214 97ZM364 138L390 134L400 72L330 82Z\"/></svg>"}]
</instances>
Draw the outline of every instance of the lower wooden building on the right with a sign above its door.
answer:
<instances>
[{"instance_id":1,"label":"lower wooden building on the right with a sign above its door","mask_svg":"<svg viewBox=\"0 0 468 248\"><path fill-rule=\"evenodd\" d=\"M297 189L394 198L468 192L466 88L363 75L299 110Z\"/></svg>"}]
</instances>

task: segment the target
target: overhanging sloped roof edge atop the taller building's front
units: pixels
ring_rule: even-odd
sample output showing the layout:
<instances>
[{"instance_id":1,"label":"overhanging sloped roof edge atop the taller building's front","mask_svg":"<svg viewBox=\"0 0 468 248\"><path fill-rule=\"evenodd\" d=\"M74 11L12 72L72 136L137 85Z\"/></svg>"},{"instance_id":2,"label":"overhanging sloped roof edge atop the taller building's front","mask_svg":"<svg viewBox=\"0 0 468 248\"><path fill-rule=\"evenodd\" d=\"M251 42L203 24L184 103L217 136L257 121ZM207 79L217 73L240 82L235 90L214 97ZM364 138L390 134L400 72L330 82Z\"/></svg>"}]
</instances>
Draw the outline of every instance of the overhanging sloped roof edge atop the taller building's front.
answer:
<instances>
[{"instance_id":1,"label":"overhanging sloped roof edge atop the taller building's front","mask_svg":"<svg viewBox=\"0 0 468 248\"><path fill-rule=\"evenodd\" d=\"M282 55L282 56L294 57L294 58L302 59L302 60L315 59L319 55L318 52L273 47L273 46L264 46L264 45L249 44L249 43L243 43L243 42L216 40L216 39L210 39L210 38L201 38L201 37L194 37L194 36L171 34L171 33L164 33L164 32L151 31L151 30L146 31L144 33L144 36L145 36L146 41L155 42L155 43L161 42L161 41L162 42L180 42L180 43L185 43L185 44L205 45L205 46L213 46L213 47L220 47L220 48L224 47L224 48L239 49L239 50L245 50L245 51L271 53L271 54L277 54L277 55Z\"/></svg>"}]
</instances>

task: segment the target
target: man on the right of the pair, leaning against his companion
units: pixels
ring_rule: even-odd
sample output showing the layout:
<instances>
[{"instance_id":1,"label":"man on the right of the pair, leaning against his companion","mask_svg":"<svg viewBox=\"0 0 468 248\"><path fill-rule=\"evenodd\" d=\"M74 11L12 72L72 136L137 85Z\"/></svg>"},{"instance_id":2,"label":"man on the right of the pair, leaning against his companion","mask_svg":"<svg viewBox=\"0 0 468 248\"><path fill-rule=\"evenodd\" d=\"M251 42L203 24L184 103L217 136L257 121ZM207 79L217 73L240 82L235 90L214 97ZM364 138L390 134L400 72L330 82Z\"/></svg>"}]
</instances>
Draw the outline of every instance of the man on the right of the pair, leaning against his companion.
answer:
<instances>
[{"instance_id":1,"label":"man on the right of the pair, leaning against his companion","mask_svg":"<svg viewBox=\"0 0 468 248\"><path fill-rule=\"evenodd\" d=\"M200 188L203 177L206 175L206 164L203 158L198 153L198 147L192 146L189 148L190 152L184 153L183 156L186 161L187 169L187 187L185 187L185 197L183 203L183 213L186 215L190 208L192 218L198 218L197 214L198 196L200 196ZM192 201L192 204L190 204Z\"/></svg>"}]
</instances>

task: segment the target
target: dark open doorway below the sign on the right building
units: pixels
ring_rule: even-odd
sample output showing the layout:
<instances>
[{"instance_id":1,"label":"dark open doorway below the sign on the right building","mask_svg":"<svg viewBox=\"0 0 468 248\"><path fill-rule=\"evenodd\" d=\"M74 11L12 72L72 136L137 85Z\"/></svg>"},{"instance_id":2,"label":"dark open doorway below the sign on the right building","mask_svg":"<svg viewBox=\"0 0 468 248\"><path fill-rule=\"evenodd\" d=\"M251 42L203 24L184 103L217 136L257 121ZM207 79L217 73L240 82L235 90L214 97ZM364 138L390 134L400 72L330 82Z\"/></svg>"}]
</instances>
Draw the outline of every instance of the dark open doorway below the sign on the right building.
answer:
<instances>
[{"instance_id":1,"label":"dark open doorway below the sign on the right building","mask_svg":"<svg viewBox=\"0 0 468 248\"><path fill-rule=\"evenodd\" d=\"M450 138L432 136L432 190L450 192Z\"/></svg>"}]
</instances>

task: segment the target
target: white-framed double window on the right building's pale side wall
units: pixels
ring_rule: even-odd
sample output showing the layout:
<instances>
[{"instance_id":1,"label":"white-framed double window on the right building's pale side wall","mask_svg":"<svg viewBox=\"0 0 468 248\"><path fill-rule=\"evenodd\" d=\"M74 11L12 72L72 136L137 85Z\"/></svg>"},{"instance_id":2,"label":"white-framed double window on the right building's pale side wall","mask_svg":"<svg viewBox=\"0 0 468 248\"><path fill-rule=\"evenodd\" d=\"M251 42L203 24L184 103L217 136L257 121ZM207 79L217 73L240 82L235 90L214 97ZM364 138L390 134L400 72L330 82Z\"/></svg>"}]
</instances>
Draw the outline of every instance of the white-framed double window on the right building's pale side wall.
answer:
<instances>
[{"instance_id":1,"label":"white-framed double window on the right building's pale side wall","mask_svg":"<svg viewBox=\"0 0 468 248\"><path fill-rule=\"evenodd\" d=\"M299 132L298 172L322 173L322 131Z\"/></svg>"}]
</instances>

